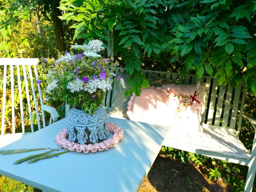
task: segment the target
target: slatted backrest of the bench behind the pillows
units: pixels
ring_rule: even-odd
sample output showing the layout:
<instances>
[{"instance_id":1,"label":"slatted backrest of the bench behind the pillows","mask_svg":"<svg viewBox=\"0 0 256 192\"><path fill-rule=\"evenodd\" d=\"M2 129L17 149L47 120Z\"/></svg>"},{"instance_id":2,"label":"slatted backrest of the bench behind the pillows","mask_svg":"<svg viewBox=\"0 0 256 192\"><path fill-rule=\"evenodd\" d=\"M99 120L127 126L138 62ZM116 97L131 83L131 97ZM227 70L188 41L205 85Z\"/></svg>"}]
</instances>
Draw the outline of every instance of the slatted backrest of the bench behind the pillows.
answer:
<instances>
[{"instance_id":1,"label":"slatted backrest of the bench behind the pillows","mask_svg":"<svg viewBox=\"0 0 256 192\"><path fill-rule=\"evenodd\" d=\"M128 73L124 68L123 71ZM119 69L116 69L115 74L118 73ZM180 77L179 73L149 70L142 70L142 74L147 79L169 79L171 83L176 84L199 83L196 80L196 76L193 74ZM240 82L239 85L232 90L230 84L226 87L218 87L218 78L212 79L210 76L203 76L200 83L204 82L206 83L206 89L201 123L229 127L239 131L246 93L242 83ZM106 99L103 102L106 107L111 108L111 103L114 102L112 94L113 91L106 94ZM238 112L238 110L240 112Z\"/></svg>"}]
</instances>

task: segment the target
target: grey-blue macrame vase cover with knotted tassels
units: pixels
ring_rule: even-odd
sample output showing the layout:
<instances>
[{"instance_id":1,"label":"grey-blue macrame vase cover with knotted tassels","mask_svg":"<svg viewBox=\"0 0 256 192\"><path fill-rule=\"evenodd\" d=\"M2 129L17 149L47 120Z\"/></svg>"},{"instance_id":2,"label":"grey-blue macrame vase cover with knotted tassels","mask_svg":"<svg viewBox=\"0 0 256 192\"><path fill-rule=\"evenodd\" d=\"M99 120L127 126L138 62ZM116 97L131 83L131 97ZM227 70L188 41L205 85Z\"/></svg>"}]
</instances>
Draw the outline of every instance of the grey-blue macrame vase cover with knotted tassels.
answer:
<instances>
[{"instance_id":1,"label":"grey-blue macrame vase cover with knotted tassels","mask_svg":"<svg viewBox=\"0 0 256 192\"><path fill-rule=\"evenodd\" d=\"M102 106L93 112L84 113L83 110L72 108L68 113L68 141L86 144L87 140L98 143L109 134L106 112ZM90 135L86 132L90 131ZM75 131L76 130L76 131ZM77 132L77 134L75 133Z\"/></svg>"}]
</instances>

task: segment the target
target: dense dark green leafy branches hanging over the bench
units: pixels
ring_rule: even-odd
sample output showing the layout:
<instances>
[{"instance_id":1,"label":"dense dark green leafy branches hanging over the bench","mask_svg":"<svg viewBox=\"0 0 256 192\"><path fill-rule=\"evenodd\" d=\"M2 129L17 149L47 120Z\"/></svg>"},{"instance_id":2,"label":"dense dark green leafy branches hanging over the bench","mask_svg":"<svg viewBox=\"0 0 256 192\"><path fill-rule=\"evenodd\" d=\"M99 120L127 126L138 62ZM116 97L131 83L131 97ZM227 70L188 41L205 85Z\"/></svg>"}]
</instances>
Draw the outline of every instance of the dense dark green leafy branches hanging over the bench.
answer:
<instances>
[{"instance_id":1,"label":"dense dark green leafy branches hanging over the bench","mask_svg":"<svg viewBox=\"0 0 256 192\"><path fill-rule=\"evenodd\" d=\"M148 58L152 68L163 56L171 57L173 69L181 66L182 75L194 71L200 79L207 73L233 87L242 79L256 95L256 1L238 2L62 0L59 8L65 10L60 19L75 22L73 40L100 38L113 45L108 55L122 59L136 95L147 87L141 68Z\"/></svg>"}]
</instances>

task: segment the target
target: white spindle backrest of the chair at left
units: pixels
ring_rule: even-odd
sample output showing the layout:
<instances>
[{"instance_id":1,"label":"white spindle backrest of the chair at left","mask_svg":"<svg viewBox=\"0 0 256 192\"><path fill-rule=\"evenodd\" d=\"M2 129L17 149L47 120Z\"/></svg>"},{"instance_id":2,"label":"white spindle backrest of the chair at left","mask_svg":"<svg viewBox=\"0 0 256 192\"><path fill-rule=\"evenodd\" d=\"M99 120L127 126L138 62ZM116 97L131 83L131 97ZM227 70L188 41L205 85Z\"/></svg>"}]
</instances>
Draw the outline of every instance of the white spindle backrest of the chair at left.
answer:
<instances>
[{"instance_id":1,"label":"white spindle backrest of the chair at left","mask_svg":"<svg viewBox=\"0 0 256 192\"><path fill-rule=\"evenodd\" d=\"M31 59L0 58L0 67L3 68L2 119L1 119L1 132L0 132L1 135L5 134L4 133L5 124L7 122L5 119L6 105L12 111L12 114L11 114L12 133L15 133L15 107L17 109L18 103L20 106L20 117L16 116L16 118L21 119L22 133L25 133L25 125L24 125L24 112L25 112L24 107L25 106L23 106L23 102L25 103L25 105L27 105L31 131L34 132L33 122L37 122L38 129L41 129L38 110L41 109L39 106L41 106L42 104L42 95L40 90L40 84L37 84L37 90L35 90L35 82L34 82L34 79L38 80L38 73L37 73L38 62L39 62L39 59L37 58L31 58ZM10 74L7 74L7 71L10 71ZM10 85L10 90L11 90L10 92L6 88L7 83L8 85ZM38 97L40 100L39 103L37 102ZM24 101L24 99L26 100ZM35 111L32 111L31 107ZM45 121L43 112L42 112L42 119L43 121ZM43 124L45 124L45 122Z\"/></svg>"}]
</instances>

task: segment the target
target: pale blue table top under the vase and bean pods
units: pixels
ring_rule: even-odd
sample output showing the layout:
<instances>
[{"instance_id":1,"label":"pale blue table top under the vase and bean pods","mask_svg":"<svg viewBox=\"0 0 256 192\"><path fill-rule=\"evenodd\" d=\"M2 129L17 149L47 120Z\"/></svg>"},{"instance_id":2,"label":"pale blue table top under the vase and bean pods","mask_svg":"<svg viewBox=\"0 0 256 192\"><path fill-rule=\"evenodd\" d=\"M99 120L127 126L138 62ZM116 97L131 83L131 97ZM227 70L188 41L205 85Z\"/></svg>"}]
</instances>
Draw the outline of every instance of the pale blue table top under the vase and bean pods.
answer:
<instances>
[{"instance_id":1,"label":"pale blue table top under the vase and bean pods","mask_svg":"<svg viewBox=\"0 0 256 192\"><path fill-rule=\"evenodd\" d=\"M0 155L0 174L48 192L138 191L169 127L111 117L108 121L124 129L123 139L109 150L70 152L17 165L16 160L44 151ZM62 119L1 149L58 148L54 138L66 124L67 118Z\"/></svg>"}]
</instances>

